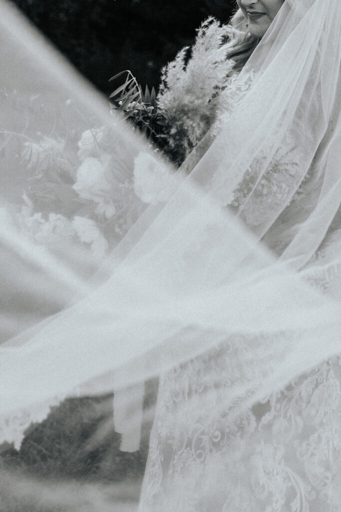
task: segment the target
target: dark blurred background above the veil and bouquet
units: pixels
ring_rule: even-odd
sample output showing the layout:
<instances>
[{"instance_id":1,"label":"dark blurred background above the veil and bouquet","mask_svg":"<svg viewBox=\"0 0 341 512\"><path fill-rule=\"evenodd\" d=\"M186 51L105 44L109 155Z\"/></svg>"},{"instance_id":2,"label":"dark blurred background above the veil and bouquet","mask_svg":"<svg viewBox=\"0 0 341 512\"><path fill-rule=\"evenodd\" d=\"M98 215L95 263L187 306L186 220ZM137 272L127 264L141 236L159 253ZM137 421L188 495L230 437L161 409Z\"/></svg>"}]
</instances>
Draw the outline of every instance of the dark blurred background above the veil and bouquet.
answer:
<instances>
[{"instance_id":1,"label":"dark blurred background above the veil and bouquet","mask_svg":"<svg viewBox=\"0 0 341 512\"><path fill-rule=\"evenodd\" d=\"M129 69L157 88L160 70L214 15L229 20L234 0L12 0L98 89Z\"/></svg>"}]
</instances>

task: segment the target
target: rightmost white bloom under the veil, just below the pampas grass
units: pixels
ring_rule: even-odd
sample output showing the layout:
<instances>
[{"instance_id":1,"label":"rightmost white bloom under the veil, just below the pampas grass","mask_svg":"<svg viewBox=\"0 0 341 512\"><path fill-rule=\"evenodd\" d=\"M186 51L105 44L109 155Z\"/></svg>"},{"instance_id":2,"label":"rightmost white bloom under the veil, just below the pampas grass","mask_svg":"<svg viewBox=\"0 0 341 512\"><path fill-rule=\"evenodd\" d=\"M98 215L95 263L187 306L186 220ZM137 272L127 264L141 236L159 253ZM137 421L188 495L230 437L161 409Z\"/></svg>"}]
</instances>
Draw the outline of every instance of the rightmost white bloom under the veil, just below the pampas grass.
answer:
<instances>
[{"instance_id":1,"label":"rightmost white bloom under the veil, just below the pampas grass","mask_svg":"<svg viewBox=\"0 0 341 512\"><path fill-rule=\"evenodd\" d=\"M168 167L152 155L140 152L134 159L135 194L147 204L166 202L174 193L175 176Z\"/></svg>"}]
</instances>

